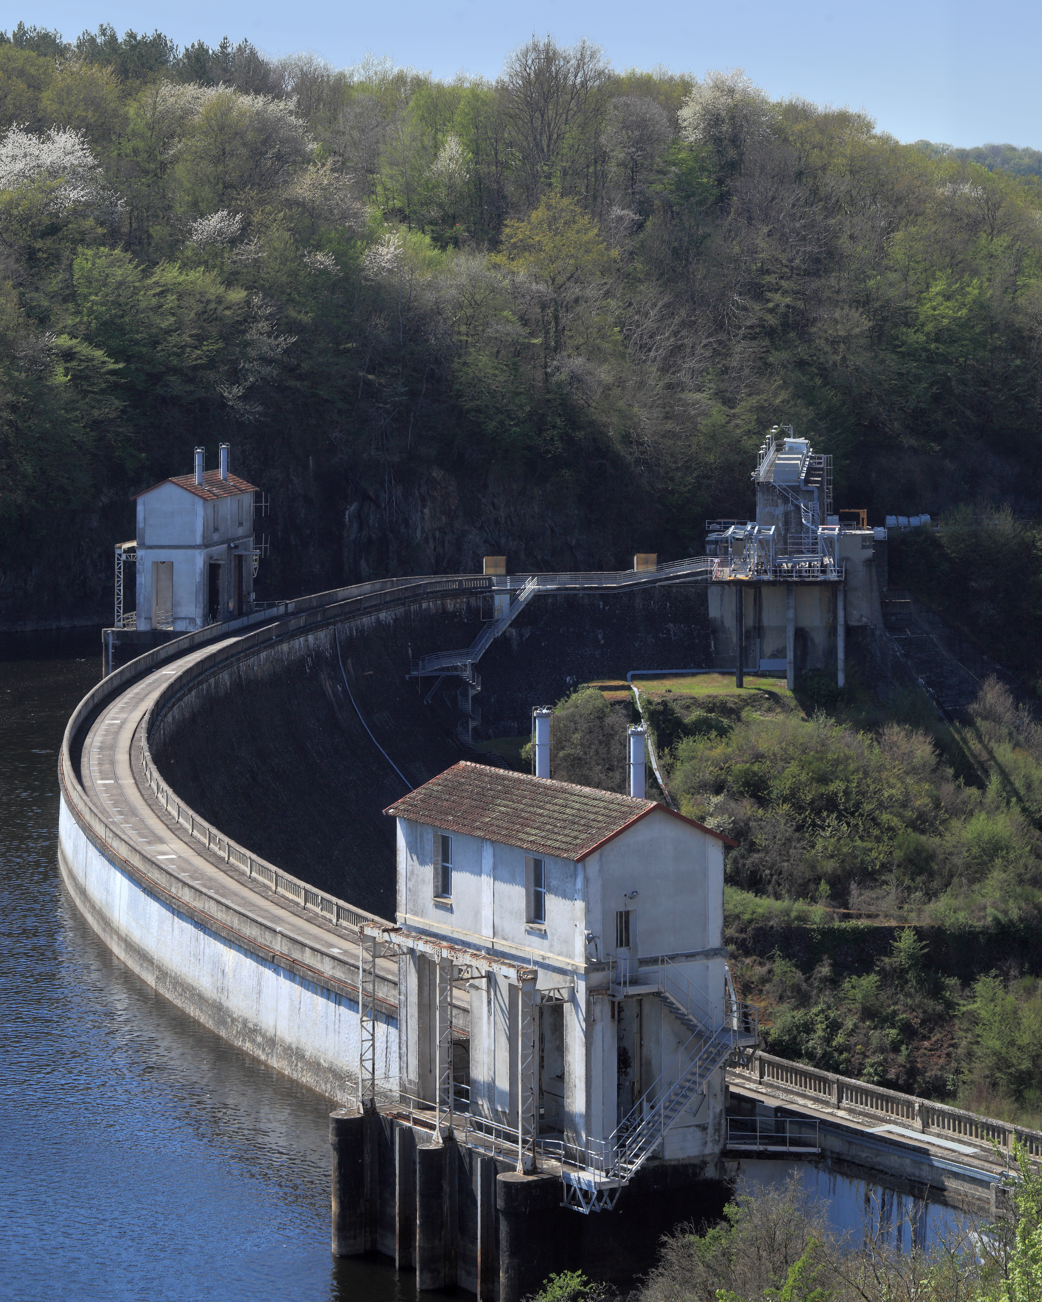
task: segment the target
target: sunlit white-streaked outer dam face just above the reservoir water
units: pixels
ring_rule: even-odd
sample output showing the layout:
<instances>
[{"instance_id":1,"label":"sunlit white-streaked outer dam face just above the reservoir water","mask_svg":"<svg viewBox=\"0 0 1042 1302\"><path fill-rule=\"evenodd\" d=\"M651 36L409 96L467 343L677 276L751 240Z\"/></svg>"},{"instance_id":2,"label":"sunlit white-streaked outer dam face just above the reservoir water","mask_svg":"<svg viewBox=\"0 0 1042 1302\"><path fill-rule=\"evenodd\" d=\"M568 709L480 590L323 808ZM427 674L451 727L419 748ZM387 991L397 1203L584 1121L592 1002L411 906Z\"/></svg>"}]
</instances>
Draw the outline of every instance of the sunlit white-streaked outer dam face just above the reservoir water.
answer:
<instances>
[{"instance_id":1,"label":"sunlit white-streaked outer dam face just above the reservoir water","mask_svg":"<svg viewBox=\"0 0 1042 1302\"><path fill-rule=\"evenodd\" d=\"M257 924L255 935L236 939L231 926L203 921L190 900L175 896L175 888L185 891L184 883L150 884L129 863L116 861L85 832L63 793L61 875L108 948L232 1044L319 1094L354 1104L358 1004L345 980L356 976L354 970L345 963L345 979L328 983L318 974L305 975L294 956L279 956L284 937ZM214 901L208 905L212 910ZM393 1018L378 1027L376 1047L378 1073L396 1072Z\"/></svg>"}]
</instances>

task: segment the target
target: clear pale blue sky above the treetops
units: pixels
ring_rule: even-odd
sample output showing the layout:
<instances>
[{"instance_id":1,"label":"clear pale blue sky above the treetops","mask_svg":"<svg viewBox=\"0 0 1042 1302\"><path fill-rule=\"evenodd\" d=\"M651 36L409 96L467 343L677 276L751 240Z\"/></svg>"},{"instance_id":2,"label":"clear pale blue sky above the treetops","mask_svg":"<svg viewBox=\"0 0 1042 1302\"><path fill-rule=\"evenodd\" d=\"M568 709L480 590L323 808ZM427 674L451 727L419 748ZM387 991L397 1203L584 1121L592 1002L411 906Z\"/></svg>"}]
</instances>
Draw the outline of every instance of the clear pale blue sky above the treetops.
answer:
<instances>
[{"instance_id":1,"label":"clear pale blue sky above the treetops","mask_svg":"<svg viewBox=\"0 0 1042 1302\"><path fill-rule=\"evenodd\" d=\"M17 0L16 0L17 3ZM430 69L495 77L505 53L533 31L600 44L616 68L662 62L696 74L741 66L771 95L865 108L903 141L951 145L1009 141L1042 148L1039 38L1042 4L1024 0L376 0L340 5L184 0L55 0L7 10L57 27L65 38L111 22L120 33L159 27L178 44L225 33L249 36L266 53L314 49L331 62L367 51ZM8 30L10 30L8 27Z\"/></svg>"}]
</instances>

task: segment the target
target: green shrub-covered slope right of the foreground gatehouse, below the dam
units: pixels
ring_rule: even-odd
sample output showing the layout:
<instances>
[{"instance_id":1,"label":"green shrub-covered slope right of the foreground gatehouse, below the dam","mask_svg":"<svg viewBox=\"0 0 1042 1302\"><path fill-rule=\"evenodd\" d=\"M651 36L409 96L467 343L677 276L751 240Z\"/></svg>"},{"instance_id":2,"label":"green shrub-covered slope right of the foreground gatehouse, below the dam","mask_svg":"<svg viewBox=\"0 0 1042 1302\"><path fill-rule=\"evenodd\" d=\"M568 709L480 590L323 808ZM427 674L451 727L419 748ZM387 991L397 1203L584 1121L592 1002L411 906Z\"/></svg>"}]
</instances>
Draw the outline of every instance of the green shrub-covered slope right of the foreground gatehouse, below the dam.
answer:
<instances>
[{"instance_id":1,"label":"green shrub-covered slope right of the foreground gatehouse, below the dam","mask_svg":"<svg viewBox=\"0 0 1042 1302\"><path fill-rule=\"evenodd\" d=\"M725 943L762 1046L1039 1126L1042 728L994 678L952 725L914 685L890 706L858 673L827 689L640 687L669 797L736 842ZM557 703L555 777L625 790L630 691Z\"/></svg>"}]
</instances>

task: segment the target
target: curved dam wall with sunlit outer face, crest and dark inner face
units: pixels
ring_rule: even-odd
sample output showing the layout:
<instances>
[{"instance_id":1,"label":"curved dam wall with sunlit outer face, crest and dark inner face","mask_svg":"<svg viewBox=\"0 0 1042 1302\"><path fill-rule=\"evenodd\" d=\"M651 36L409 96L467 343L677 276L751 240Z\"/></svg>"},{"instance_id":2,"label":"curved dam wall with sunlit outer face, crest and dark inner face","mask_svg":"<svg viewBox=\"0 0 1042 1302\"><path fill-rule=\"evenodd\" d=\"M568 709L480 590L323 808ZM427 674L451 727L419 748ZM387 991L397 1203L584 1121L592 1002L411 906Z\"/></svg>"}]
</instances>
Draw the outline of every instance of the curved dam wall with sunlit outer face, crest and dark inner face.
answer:
<instances>
[{"instance_id":1,"label":"curved dam wall with sunlit outer face, crest and dark inner face","mask_svg":"<svg viewBox=\"0 0 1042 1302\"><path fill-rule=\"evenodd\" d=\"M401 775L417 785L464 754L458 680L425 704L410 658L466 646L487 589L384 581L178 638L99 684L66 729L60 863L87 921L193 1017L343 1103L358 1064L352 910L395 911L382 810ZM533 703L582 678L705 663L705 587L541 596L481 663L485 729L526 730ZM387 963L380 1075L397 1073L396 987Z\"/></svg>"}]
</instances>

